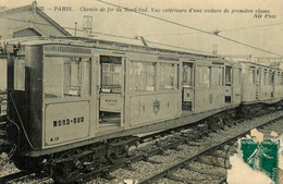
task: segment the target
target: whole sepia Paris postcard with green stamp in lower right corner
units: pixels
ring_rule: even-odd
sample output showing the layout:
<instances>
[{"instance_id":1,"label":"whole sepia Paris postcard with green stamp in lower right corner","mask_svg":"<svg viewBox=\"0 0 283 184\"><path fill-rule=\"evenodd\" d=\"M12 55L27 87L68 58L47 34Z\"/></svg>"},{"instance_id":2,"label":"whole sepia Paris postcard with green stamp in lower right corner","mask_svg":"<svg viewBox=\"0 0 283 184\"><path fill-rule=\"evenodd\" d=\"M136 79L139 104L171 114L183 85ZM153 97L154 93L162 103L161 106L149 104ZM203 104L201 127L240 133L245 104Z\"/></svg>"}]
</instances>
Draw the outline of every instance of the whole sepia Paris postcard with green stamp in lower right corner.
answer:
<instances>
[{"instance_id":1,"label":"whole sepia Paris postcard with green stamp in lower right corner","mask_svg":"<svg viewBox=\"0 0 283 184\"><path fill-rule=\"evenodd\" d=\"M282 0L0 0L0 176L40 168L67 183L107 163L131 170L125 160L138 138L195 123L181 131L190 138L183 155L194 160L217 145L202 150L202 133L220 135L271 110L279 119L282 48ZM239 139L237 154L222 158L230 167L210 164L224 175L190 164L186 179L161 173L161 183L283 184L278 127L272 138ZM144 164L159 162L148 155Z\"/></svg>"}]
</instances>

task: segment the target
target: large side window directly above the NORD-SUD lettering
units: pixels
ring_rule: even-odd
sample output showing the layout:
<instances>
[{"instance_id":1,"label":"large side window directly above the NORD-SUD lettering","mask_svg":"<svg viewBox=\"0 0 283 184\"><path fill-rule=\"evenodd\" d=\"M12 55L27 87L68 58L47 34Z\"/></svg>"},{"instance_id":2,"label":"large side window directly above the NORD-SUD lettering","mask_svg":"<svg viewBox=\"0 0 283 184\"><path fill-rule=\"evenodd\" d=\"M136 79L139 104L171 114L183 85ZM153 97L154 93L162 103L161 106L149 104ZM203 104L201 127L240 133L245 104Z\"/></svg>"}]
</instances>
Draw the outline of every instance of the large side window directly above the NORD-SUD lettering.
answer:
<instances>
[{"instance_id":1,"label":"large side window directly above the NORD-SUD lettering","mask_svg":"<svg viewBox=\"0 0 283 184\"><path fill-rule=\"evenodd\" d=\"M85 77L89 78L90 74ZM82 59L46 57L44 87L45 98L81 97Z\"/></svg>"}]
</instances>

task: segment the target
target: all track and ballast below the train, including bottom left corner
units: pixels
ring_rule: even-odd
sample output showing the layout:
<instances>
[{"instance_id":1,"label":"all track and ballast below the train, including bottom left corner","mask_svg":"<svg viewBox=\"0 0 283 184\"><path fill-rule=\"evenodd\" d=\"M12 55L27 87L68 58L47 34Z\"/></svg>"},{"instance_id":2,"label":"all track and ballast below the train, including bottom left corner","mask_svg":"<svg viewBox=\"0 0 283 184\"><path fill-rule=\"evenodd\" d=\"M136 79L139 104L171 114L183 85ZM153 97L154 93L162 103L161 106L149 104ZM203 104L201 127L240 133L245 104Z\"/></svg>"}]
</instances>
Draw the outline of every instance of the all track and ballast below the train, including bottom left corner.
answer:
<instances>
[{"instance_id":1,"label":"all track and ballast below the train, including bottom left corner","mask_svg":"<svg viewBox=\"0 0 283 184\"><path fill-rule=\"evenodd\" d=\"M156 139L144 137L143 142L145 143L142 144L140 147L130 151L131 154L128 157L122 162L102 167L100 169L94 168L91 172L84 175L71 175L66 177L64 182L85 183L90 181L90 183L120 183L132 177L139 183L152 183L155 181L157 181L157 183L199 183L200 181L201 183L205 183L206 181L211 183L212 180L216 181L214 183L223 183L226 179L225 171L230 167L226 160L230 155L235 151L235 148L230 145L236 143L235 140L238 137L246 135L251 128L259 128L266 125L268 130L272 130L272 126L267 126L267 124L282 120L282 116L283 112L276 111L268 115L261 115L245 121L245 123L243 123L243 120L236 121L231 127L225 126L224 130L219 130L217 132L209 127L204 128L199 125L195 128L171 132L171 134L168 133L167 135L162 134L162 136L156 134ZM201 130L201 133L199 130ZM146 139L149 140L146 142ZM174 159L168 159L167 156L172 152L176 156ZM211 160L217 160L219 164L211 162ZM138 164L145 164L151 174L148 175L146 174L148 172L140 171ZM210 167L213 171L217 170L217 172L211 172L212 169L206 170L204 167L202 169L199 169L201 168L199 165ZM157 169L160 167L162 169ZM153 170L151 171L151 169ZM190 177L177 176L177 173L181 172L181 170L188 172L186 175L190 175ZM143 173L143 175L140 173ZM8 180L9 177L11 180ZM29 180L28 177L30 177L30 173L29 176L21 176L19 173L19 175L14 174L14 176L1 177L0 183L3 183L1 181L7 181L5 183L9 183L9 181L13 180ZM94 177L98 179L94 180ZM34 180L34 183L42 183L45 181L52 183L49 177L44 176Z\"/></svg>"}]
</instances>

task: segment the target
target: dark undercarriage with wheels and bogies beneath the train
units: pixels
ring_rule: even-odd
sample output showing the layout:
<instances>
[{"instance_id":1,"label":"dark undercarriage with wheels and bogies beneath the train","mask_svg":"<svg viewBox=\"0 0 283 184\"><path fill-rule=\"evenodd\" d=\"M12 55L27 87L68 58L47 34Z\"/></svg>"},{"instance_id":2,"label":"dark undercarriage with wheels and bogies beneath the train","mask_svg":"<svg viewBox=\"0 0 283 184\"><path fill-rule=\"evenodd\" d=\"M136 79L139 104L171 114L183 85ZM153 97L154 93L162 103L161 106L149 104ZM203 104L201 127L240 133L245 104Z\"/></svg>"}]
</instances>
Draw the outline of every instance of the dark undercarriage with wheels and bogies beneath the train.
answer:
<instances>
[{"instance_id":1,"label":"dark undercarriage with wheels and bogies beneath the train","mask_svg":"<svg viewBox=\"0 0 283 184\"><path fill-rule=\"evenodd\" d=\"M13 143L9 142L9 134L13 132L15 125L2 122L1 124L1 152L9 152L8 159L13 161L15 167L20 170L33 170L36 172L44 171L48 175L52 176L54 181L59 183L70 182L69 179L75 176L82 177L83 174L88 174L98 171L106 165L116 164L123 162L128 157L128 148L138 145L148 137L155 137L157 135L167 135L171 131L181 131L187 127L194 127L200 130L206 134L209 132L217 132L224 126L232 126L235 120L250 119L253 116L268 113L274 109L282 109L282 101L274 105L249 105L239 106L217 113L212 116L202 119L198 122L187 124L182 127L170 128L163 132L147 135L145 137L138 136L123 136L108 139L107 142L99 142L91 145L74 148L66 151L56 152L40 157L26 157L21 156L15 150ZM5 118L2 116L2 120ZM104 173L104 177L108 177L108 172Z\"/></svg>"}]
</instances>

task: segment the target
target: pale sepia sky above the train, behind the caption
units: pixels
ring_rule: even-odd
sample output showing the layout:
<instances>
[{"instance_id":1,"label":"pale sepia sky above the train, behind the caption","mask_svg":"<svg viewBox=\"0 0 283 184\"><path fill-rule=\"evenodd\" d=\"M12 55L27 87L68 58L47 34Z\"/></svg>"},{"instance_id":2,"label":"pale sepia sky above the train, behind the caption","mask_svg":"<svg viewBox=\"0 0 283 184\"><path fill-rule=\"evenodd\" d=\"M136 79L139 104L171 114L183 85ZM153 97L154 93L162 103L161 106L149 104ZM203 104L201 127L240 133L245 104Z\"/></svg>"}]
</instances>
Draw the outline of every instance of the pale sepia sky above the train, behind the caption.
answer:
<instances>
[{"instance_id":1,"label":"pale sepia sky above the train, behind the caption","mask_svg":"<svg viewBox=\"0 0 283 184\"><path fill-rule=\"evenodd\" d=\"M257 47L283 56L283 1L282 0L103 0L120 7L139 9L145 14L116 11L116 7L97 0L37 0L45 13L71 34L83 28L84 15L93 16L93 32L135 38L212 52L218 45L220 54L253 54L253 57L278 57L241 44ZM0 0L0 7L16 8L30 4L33 0ZM106 11L101 11L101 8ZM97 11L86 11L86 10ZM113 10L112 10L113 9ZM177 9L185 12L170 12ZM108 12L108 10L112 10ZM159 10L159 11L158 11ZM255 17L256 16L256 17ZM261 16L261 17L259 17ZM162 19L160 21L158 19ZM164 20L170 21L164 22ZM176 23L176 24L172 24ZM197 28L199 30L192 29ZM205 30L206 33L201 33ZM84 36L83 32L77 32ZM103 38L95 34L95 38ZM116 40L116 37L108 37ZM125 40L126 41L126 40ZM140 41L142 44L142 41ZM149 46L155 46L148 42ZM160 46L161 47L161 46Z\"/></svg>"}]
</instances>

